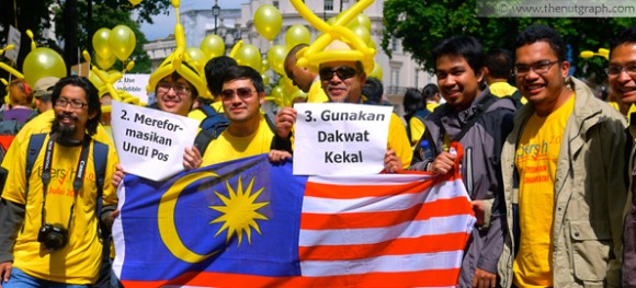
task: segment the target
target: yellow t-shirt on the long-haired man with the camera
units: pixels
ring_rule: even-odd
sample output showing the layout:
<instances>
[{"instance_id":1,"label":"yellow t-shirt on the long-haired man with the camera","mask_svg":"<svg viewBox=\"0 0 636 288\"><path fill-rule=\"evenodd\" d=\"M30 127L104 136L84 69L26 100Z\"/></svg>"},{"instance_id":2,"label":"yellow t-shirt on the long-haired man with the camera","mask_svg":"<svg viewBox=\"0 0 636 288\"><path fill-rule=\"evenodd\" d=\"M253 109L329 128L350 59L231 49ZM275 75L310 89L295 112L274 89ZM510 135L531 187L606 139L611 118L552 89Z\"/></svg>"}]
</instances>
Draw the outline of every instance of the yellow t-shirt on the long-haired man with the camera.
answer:
<instances>
[{"instance_id":1,"label":"yellow t-shirt on the long-haired man with the camera","mask_svg":"<svg viewBox=\"0 0 636 288\"><path fill-rule=\"evenodd\" d=\"M27 137L29 139L30 137ZM44 143L48 142L48 136ZM60 223L69 232L69 239L63 249L49 252L37 242L37 232L42 227L43 183L42 166L46 147L33 165L33 173L25 178L27 141L20 147L13 146L16 152L4 158L3 165L11 171L8 175L2 198L25 205L24 229L20 230L13 246L13 266L33 277L75 285L94 283L101 263L102 243L98 238L98 216L95 215L96 182L93 160L93 143L91 142L83 186L77 196L77 203L71 219L70 207L73 197L73 176L80 158L81 147L64 147L55 143L52 160L52 178L47 187L46 217L47 223ZM114 149L109 149L105 180L103 187L103 205L116 205L117 196L111 185L111 177L117 163ZM25 184L29 181L29 195Z\"/></svg>"}]
</instances>

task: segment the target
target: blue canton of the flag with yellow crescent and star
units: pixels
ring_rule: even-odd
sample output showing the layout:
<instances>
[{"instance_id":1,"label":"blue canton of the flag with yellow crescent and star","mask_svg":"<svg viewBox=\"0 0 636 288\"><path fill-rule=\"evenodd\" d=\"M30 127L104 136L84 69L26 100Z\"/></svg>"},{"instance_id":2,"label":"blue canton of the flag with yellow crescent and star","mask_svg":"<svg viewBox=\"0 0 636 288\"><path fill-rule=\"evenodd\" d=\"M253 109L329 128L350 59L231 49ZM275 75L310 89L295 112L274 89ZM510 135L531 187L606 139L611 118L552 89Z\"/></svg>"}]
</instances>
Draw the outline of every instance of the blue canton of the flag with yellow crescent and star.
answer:
<instances>
[{"instance_id":1,"label":"blue canton of the flag with yellow crescent and star","mask_svg":"<svg viewBox=\"0 0 636 288\"><path fill-rule=\"evenodd\" d=\"M147 231L144 234L151 238L146 240L152 244L126 238L124 265L130 257L129 263L140 260L139 265L156 261L156 269L132 269L139 273L134 273L134 278L143 279L169 279L192 267L262 276L299 275L298 230L305 182L306 177L292 175L289 164L272 165L266 155L258 155L182 173L155 191L157 185L138 182L146 195L126 185L126 205L134 200L145 205L130 205L136 209L130 215L137 217L129 221L125 220L124 206L124 233L126 228Z\"/></svg>"}]
</instances>

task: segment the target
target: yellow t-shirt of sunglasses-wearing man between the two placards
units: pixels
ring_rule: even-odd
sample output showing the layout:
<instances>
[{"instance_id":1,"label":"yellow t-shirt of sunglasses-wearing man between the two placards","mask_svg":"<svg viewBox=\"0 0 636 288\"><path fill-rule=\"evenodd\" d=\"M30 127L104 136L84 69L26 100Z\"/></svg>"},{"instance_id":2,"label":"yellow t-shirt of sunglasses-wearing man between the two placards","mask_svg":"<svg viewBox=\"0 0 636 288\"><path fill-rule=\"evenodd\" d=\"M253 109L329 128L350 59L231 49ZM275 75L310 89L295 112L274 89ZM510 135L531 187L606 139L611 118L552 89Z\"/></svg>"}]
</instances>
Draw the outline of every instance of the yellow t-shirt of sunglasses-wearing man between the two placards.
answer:
<instances>
[{"instance_id":1,"label":"yellow t-shirt of sunglasses-wearing man between the two placards","mask_svg":"<svg viewBox=\"0 0 636 288\"><path fill-rule=\"evenodd\" d=\"M259 129L247 137L231 136L226 129L209 142L203 154L202 166L270 152L274 133L261 115Z\"/></svg>"}]
</instances>

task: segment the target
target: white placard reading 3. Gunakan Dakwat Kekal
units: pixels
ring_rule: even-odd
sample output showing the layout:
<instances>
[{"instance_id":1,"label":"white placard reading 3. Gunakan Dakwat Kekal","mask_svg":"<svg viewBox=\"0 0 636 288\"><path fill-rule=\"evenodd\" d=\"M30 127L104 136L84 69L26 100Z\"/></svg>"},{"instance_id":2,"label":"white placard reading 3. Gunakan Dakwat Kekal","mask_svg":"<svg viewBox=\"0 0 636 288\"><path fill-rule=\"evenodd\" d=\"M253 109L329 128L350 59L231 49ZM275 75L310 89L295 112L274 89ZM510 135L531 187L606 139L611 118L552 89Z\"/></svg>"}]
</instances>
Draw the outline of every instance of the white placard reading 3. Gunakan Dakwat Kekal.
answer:
<instances>
[{"instance_id":1,"label":"white placard reading 3. Gunakan Dakwat Kekal","mask_svg":"<svg viewBox=\"0 0 636 288\"><path fill-rule=\"evenodd\" d=\"M370 175L384 169L393 107L296 104L295 175Z\"/></svg>"}]
</instances>

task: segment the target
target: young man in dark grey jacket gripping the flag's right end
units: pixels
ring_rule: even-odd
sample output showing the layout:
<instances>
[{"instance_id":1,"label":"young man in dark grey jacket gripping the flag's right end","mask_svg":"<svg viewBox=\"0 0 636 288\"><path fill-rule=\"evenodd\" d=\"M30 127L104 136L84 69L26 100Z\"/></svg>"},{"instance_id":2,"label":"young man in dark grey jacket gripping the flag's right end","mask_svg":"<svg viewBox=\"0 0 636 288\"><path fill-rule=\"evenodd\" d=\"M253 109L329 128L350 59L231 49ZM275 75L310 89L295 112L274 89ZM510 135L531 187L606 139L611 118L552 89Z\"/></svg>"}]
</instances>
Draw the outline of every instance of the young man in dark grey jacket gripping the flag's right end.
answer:
<instances>
[{"instance_id":1,"label":"young man in dark grey jacket gripping the flag's right end","mask_svg":"<svg viewBox=\"0 0 636 288\"><path fill-rule=\"evenodd\" d=\"M453 141L462 143L461 173L477 222L465 249L458 287L495 287L503 238L501 214L492 207L498 207L495 198L502 193L499 155L512 129L514 102L486 89L484 49L474 37L444 39L432 55L446 103L423 119L427 129L409 170L452 173L456 155L446 147Z\"/></svg>"}]
</instances>

